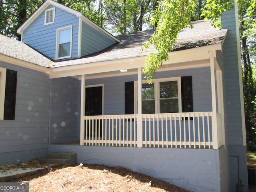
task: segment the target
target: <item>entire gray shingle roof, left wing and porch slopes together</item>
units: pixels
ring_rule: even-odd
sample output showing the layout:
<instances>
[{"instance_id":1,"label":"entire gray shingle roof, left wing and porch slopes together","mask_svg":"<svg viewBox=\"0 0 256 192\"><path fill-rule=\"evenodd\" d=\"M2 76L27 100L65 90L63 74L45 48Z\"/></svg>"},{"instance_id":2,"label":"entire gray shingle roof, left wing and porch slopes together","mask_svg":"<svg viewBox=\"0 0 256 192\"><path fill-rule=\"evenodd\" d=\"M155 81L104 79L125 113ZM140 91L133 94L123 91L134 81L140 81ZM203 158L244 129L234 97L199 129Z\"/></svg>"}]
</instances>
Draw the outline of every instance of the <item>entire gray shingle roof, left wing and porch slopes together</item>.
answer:
<instances>
[{"instance_id":1,"label":"entire gray shingle roof, left wing and porch slopes together","mask_svg":"<svg viewBox=\"0 0 256 192\"><path fill-rule=\"evenodd\" d=\"M199 20L193 22L193 26L193 29L186 28L180 32L174 51L221 43L227 33L226 29L213 28L209 21ZM102 52L61 62L52 62L26 44L0 35L0 54L50 68L134 58L146 56L154 51L153 46L144 51L140 50L141 44L147 41L153 33L154 30L145 30L116 36L121 42L106 48Z\"/></svg>"}]
</instances>

